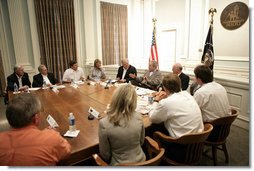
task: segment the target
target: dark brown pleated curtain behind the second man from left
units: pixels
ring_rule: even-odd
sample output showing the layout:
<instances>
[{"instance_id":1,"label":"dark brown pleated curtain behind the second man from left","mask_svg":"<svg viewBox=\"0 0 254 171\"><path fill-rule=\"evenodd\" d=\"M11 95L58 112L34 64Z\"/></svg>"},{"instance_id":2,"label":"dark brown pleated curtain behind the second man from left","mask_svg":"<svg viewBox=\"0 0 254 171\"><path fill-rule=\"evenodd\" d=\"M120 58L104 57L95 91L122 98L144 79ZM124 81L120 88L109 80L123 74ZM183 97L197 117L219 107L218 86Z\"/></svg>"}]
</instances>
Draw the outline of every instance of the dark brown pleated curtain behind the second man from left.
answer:
<instances>
[{"instance_id":1,"label":"dark brown pleated curtain behind the second man from left","mask_svg":"<svg viewBox=\"0 0 254 171\"><path fill-rule=\"evenodd\" d=\"M34 0L40 61L61 81L70 60L76 60L73 0Z\"/></svg>"}]
</instances>

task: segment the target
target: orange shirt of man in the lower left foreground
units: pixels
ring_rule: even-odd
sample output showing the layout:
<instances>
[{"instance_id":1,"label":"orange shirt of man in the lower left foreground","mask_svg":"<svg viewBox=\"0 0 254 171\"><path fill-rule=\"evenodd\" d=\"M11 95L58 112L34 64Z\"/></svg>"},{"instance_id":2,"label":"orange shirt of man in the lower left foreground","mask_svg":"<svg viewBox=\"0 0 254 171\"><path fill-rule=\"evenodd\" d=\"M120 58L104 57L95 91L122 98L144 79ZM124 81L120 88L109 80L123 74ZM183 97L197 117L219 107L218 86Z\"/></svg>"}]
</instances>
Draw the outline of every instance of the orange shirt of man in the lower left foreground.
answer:
<instances>
[{"instance_id":1,"label":"orange shirt of man in the lower left foreground","mask_svg":"<svg viewBox=\"0 0 254 171\"><path fill-rule=\"evenodd\" d=\"M0 132L1 166L50 166L66 158L70 144L53 129L25 128Z\"/></svg>"}]
</instances>

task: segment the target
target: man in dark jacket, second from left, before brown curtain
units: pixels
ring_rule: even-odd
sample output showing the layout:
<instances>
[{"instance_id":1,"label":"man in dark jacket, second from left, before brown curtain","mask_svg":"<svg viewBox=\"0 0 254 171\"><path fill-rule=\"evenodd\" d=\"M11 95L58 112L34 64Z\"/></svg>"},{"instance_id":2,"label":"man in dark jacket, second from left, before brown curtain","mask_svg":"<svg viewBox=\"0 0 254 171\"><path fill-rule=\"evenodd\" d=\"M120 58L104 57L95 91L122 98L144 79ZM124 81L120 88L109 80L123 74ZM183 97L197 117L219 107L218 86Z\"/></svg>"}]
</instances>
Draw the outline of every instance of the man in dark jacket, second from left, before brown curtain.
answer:
<instances>
[{"instance_id":1,"label":"man in dark jacket, second from left, before brown curtain","mask_svg":"<svg viewBox=\"0 0 254 171\"><path fill-rule=\"evenodd\" d=\"M33 76L33 87L42 87L43 82L46 86L51 86L56 84L56 79L53 73L48 72L45 65L40 65L38 67L39 74Z\"/></svg>"}]
</instances>

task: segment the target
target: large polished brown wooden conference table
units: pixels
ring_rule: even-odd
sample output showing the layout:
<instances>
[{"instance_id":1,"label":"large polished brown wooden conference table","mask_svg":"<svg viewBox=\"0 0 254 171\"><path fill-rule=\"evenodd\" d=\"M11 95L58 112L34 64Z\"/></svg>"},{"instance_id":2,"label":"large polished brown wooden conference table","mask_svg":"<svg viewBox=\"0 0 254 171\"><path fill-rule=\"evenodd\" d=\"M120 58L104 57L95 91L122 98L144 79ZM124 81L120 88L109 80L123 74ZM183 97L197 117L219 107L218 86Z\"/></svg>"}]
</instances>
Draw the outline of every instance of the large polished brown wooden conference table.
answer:
<instances>
[{"instance_id":1,"label":"large polished brown wooden conference table","mask_svg":"<svg viewBox=\"0 0 254 171\"><path fill-rule=\"evenodd\" d=\"M74 114L76 128L80 132L75 138L65 137L71 144L71 156L61 161L60 165L75 165L99 152L99 120L96 118L88 120L88 109L92 107L102 114L110 103L116 87L111 86L109 89L104 89L101 85L87 85L86 83L79 85L78 88L74 88L70 84L64 85L65 88L59 89L58 93L51 89L39 89L30 92L38 95L42 103L42 122L39 126L41 129L49 126L46 118L50 114L59 125L57 130L61 135L64 135L69 129L69 113ZM9 95L13 96L12 93ZM145 127L151 125L146 115L143 115L143 120Z\"/></svg>"}]
</instances>

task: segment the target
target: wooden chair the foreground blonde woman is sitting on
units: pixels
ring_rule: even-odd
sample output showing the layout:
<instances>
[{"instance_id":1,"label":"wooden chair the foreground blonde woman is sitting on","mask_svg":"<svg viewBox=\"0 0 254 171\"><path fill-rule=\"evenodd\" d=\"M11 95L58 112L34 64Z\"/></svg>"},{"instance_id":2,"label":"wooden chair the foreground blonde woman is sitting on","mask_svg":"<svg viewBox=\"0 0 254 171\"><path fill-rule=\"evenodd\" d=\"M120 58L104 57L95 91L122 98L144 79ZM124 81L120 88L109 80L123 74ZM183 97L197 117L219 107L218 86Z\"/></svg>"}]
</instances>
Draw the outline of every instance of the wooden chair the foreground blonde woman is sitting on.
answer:
<instances>
[{"instance_id":1,"label":"wooden chair the foreground blonde woman is sitting on","mask_svg":"<svg viewBox=\"0 0 254 171\"><path fill-rule=\"evenodd\" d=\"M160 148L158 143L154 141L152 138L146 136L145 143L143 145L143 150L147 155L147 160L143 162L135 162L135 163L121 163L116 166L158 166L160 161L164 155L165 149ZM96 165L98 166L109 166L99 154L92 155Z\"/></svg>"}]
</instances>

